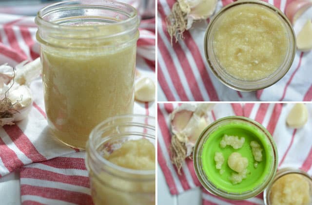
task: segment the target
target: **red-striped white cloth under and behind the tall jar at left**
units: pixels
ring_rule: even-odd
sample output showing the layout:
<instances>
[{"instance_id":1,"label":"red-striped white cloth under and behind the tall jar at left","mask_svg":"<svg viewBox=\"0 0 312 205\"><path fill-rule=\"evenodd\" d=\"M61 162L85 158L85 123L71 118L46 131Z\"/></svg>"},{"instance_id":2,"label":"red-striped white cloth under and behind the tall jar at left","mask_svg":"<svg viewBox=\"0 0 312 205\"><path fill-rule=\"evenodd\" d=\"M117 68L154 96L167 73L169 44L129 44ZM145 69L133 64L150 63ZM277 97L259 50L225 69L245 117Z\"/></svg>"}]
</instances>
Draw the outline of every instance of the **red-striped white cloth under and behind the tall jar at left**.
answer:
<instances>
[{"instance_id":1,"label":"red-striped white cloth under and behind the tall jar at left","mask_svg":"<svg viewBox=\"0 0 312 205\"><path fill-rule=\"evenodd\" d=\"M153 20L149 22L155 23ZM8 62L9 65L15 66L24 60L38 58L39 45L35 38L36 31L34 17L0 14L0 64ZM155 33L145 29L140 29L140 32L144 35L138 41L138 49L140 42L145 42L142 44L150 50L154 46L155 50ZM137 70L141 76L154 80L155 60L150 57L150 53L155 51L149 49L145 50L145 55L149 58L137 56ZM28 118L12 126L0 127L0 176L26 164L42 162L78 151L60 143L50 133L44 112L41 79L33 81L30 88L34 102ZM155 116L155 103L135 102L134 113Z\"/></svg>"}]
</instances>

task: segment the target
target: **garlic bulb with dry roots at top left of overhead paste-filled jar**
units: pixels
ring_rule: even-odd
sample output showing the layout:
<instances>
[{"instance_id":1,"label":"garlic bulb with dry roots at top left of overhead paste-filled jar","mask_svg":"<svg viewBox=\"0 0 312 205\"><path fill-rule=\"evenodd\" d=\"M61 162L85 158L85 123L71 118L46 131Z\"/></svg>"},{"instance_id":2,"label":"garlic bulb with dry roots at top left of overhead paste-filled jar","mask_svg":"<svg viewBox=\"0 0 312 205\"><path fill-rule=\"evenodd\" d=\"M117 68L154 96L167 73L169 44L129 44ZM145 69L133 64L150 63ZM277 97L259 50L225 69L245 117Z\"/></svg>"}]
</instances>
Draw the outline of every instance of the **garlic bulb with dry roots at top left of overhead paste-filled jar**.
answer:
<instances>
[{"instance_id":1,"label":"garlic bulb with dry roots at top left of overhead paste-filled jar","mask_svg":"<svg viewBox=\"0 0 312 205\"><path fill-rule=\"evenodd\" d=\"M167 17L168 33L171 37L183 39L183 32L192 27L194 21L208 19L215 12L217 0L177 0Z\"/></svg>"}]
</instances>

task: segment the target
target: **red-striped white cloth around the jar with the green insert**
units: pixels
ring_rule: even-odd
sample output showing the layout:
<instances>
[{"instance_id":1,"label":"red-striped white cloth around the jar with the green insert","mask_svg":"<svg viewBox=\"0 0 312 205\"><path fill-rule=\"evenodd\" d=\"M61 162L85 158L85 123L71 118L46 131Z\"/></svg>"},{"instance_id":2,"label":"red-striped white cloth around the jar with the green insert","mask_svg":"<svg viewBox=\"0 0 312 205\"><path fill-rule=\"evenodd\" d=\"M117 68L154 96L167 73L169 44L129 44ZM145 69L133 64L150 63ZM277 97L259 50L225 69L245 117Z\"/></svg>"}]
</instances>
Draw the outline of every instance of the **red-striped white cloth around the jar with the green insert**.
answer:
<instances>
[{"instance_id":1,"label":"red-striped white cloth around the jar with the green insert","mask_svg":"<svg viewBox=\"0 0 312 205\"><path fill-rule=\"evenodd\" d=\"M261 123L272 134L278 150L278 167L301 168L312 175L312 104L306 104L309 110L309 119L301 129L292 129L286 125L286 117L293 104L283 103L217 103L209 112L212 121L226 116L245 116ZM176 167L170 161L171 133L169 127L169 115L177 103L158 103L158 134L157 156L158 164L164 173L171 194L180 194L188 189L200 186L195 175L193 161L186 160L183 164L182 174L178 175ZM224 200L212 194L203 193L204 205L209 203L223 204L228 202L237 204L237 201ZM222 202L222 203L221 203ZM246 204L263 204L262 195L244 201ZM242 202L238 203L242 204Z\"/></svg>"}]
</instances>

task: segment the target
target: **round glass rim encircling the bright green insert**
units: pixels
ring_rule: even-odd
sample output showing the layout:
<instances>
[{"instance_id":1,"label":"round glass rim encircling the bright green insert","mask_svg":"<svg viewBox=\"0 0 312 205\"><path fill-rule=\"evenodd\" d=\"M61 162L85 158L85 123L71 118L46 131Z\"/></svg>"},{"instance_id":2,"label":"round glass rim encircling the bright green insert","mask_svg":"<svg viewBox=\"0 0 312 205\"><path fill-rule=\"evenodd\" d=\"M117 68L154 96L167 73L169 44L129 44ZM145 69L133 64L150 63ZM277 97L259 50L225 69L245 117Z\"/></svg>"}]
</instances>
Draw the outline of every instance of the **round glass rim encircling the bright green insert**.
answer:
<instances>
[{"instance_id":1,"label":"round glass rim encircling the bright green insert","mask_svg":"<svg viewBox=\"0 0 312 205\"><path fill-rule=\"evenodd\" d=\"M213 184L211 181L207 179L207 175L205 174L203 170L203 166L200 163L200 154L203 148L203 144L206 142L206 140L209 138L209 134L213 131L215 131L215 127L219 126L220 123L224 123L229 120L236 120L236 121L242 121L244 123L251 123L255 125L261 132L264 133L266 136L266 139L268 139L269 143L272 145L272 151L273 151L273 164L270 167L270 173L268 176L265 178L265 182L258 187L255 187L253 190L246 191L243 193L229 193L225 190L222 190L218 188L215 184ZM260 123L247 118L247 117L242 117L242 116L229 116L229 117L224 117L221 119L216 120L215 122L211 123L208 125L205 130L201 133L199 138L197 139L195 146L194 146L194 152L193 152L193 162L194 162L194 169L195 169L195 174L202 186L209 191L212 194L215 194L217 196L231 199L231 200L243 200L243 199L248 199L253 196L256 196L257 194L261 193L265 187L271 183L277 169L277 158L278 158L278 153L277 153L277 148L276 145L273 141L273 138L269 131Z\"/></svg>"}]
</instances>

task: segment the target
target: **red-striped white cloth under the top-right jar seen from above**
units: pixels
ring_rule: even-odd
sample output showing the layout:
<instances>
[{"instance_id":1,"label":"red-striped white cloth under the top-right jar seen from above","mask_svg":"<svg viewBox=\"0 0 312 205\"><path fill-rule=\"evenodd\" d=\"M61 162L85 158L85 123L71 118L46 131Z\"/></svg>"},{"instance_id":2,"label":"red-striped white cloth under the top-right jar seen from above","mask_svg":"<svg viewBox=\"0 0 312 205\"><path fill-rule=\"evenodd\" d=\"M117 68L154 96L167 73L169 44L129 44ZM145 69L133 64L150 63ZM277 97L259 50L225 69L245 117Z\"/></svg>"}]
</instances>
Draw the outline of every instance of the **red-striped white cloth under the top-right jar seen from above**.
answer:
<instances>
[{"instance_id":1,"label":"red-striped white cloth under the top-right jar seen from above","mask_svg":"<svg viewBox=\"0 0 312 205\"><path fill-rule=\"evenodd\" d=\"M204 54L204 34L209 20L194 23L192 29L184 32L183 41L170 44L165 18L175 2L158 0L158 101L312 100L312 81L308 78L312 75L312 52L297 51L286 76L264 90L237 92L223 85L210 71ZM219 0L216 11L231 2L233 0ZM269 0L283 12L290 2L292 0Z\"/></svg>"}]
</instances>

